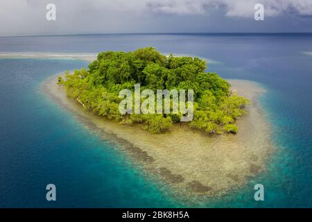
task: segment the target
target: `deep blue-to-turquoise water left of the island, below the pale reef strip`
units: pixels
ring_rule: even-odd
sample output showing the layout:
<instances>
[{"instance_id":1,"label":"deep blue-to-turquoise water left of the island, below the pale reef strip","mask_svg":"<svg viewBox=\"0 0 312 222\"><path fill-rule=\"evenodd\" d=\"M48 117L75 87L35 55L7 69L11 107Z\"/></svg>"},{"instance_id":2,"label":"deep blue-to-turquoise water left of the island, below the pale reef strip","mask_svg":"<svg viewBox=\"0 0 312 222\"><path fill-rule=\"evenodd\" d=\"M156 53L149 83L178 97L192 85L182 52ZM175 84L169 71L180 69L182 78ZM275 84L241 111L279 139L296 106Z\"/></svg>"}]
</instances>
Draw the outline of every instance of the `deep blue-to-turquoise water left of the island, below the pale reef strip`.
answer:
<instances>
[{"instance_id":1,"label":"deep blue-to-turquoise water left of the island, below the pale reef strip","mask_svg":"<svg viewBox=\"0 0 312 222\"><path fill-rule=\"evenodd\" d=\"M85 67L75 60L0 60L1 207L156 207L162 189L40 92L44 78ZM57 201L45 200L45 186Z\"/></svg>"}]
</instances>

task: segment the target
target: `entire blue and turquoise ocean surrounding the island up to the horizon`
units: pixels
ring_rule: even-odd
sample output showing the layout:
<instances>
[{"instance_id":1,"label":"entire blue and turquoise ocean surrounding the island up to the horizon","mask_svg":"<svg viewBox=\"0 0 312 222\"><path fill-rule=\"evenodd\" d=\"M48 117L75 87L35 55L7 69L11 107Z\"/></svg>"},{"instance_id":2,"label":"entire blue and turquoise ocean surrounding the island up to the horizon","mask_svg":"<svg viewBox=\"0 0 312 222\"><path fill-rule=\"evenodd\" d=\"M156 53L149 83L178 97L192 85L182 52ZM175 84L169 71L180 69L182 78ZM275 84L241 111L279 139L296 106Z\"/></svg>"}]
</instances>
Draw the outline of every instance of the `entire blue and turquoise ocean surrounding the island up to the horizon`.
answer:
<instances>
[{"instance_id":1,"label":"entire blue and turquoise ocean surrounding the island up to the horizon","mask_svg":"<svg viewBox=\"0 0 312 222\"><path fill-rule=\"evenodd\" d=\"M253 80L277 151L268 169L222 198L194 205L144 176L42 94L41 83L87 67L73 59L0 58L0 207L312 207L312 35L61 35L0 37L1 53L133 51L198 56L223 78ZM46 200L46 185L57 201ZM265 200L254 200L263 184Z\"/></svg>"}]
</instances>

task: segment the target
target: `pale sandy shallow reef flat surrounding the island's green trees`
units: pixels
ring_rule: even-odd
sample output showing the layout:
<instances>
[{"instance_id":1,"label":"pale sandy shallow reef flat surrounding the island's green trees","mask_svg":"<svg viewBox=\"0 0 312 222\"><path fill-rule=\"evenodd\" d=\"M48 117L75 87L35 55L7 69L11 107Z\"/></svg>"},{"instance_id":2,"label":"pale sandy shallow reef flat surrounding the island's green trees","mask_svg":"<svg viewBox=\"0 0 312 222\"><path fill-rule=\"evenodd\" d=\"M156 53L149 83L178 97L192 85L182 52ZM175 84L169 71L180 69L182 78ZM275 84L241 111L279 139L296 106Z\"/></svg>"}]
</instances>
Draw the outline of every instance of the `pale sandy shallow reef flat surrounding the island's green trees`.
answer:
<instances>
[{"instance_id":1,"label":"pale sandy shallow reef flat surrounding the island's green trees","mask_svg":"<svg viewBox=\"0 0 312 222\"><path fill-rule=\"evenodd\" d=\"M189 128L187 123L174 124L166 133L150 134L141 124L121 124L83 110L56 84L58 76L46 79L42 92L99 137L116 143L146 176L173 188L174 196L219 197L239 189L266 170L275 150L270 142L270 125L258 103L266 90L252 81L229 80L237 94L252 101L248 114L236 121L238 134L208 135Z\"/></svg>"}]
</instances>

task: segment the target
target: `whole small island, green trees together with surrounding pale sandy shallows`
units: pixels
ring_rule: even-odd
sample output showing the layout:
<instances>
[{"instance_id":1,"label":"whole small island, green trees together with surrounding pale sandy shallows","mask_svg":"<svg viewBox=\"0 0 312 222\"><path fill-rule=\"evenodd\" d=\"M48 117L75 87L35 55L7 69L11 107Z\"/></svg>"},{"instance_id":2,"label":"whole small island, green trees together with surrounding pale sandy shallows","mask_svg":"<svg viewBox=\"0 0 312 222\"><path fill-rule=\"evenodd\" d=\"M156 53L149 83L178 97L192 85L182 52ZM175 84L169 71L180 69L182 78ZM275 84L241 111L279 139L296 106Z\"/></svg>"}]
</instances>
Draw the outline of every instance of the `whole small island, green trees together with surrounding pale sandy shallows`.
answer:
<instances>
[{"instance_id":1,"label":"whole small island, green trees together with surrounding pale sandy shallows","mask_svg":"<svg viewBox=\"0 0 312 222\"><path fill-rule=\"evenodd\" d=\"M224 80L206 69L199 58L164 56L153 48L108 51L99 53L88 70L51 76L42 91L115 144L147 180L173 196L205 203L247 185L265 171L275 150L259 102L266 89L248 80ZM193 89L193 120L179 121L180 113L121 114L119 92L133 91L135 83L141 90Z\"/></svg>"}]
</instances>

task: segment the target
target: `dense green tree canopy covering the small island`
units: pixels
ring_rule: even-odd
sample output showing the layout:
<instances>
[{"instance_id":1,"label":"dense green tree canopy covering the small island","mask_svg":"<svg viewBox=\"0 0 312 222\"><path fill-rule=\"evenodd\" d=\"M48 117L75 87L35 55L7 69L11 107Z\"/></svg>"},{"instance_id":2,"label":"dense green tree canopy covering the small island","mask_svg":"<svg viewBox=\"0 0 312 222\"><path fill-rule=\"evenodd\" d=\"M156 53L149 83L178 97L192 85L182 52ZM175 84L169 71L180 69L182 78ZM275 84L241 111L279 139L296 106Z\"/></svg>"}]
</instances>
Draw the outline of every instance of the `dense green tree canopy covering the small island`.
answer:
<instances>
[{"instance_id":1,"label":"dense green tree canopy covering the small island","mask_svg":"<svg viewBox=\"0 0 312 222\"><path fill-rule=\"evenodd\" d=\"M232 94L226 80L205 72L206 62L187 56L164 56L152 47L133 52L105 51L89 69L67 73L59 84L67 95L77 99L86 109L121 123L142 123L150 133L160 133L179 122L182 114L121 114L119 98L122 89L134 91L136 83L144 89L193 89L194 115L191 128L207 133L237 133L235 120L245 114L250 103Z\"/></svg>"}]
</instances>

